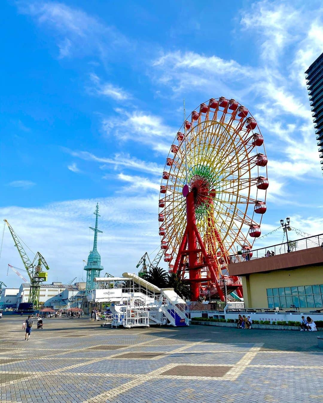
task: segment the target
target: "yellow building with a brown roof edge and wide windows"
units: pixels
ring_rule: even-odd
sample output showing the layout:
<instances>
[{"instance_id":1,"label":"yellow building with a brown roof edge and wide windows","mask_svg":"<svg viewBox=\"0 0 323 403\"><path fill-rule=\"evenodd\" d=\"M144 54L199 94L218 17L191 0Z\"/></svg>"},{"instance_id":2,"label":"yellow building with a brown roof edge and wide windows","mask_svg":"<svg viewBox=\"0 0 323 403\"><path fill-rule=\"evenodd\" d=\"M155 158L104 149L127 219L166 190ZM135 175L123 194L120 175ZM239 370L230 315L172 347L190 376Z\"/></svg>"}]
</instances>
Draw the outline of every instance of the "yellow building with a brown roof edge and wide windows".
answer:
<instances>
[{"instance_id":1,"label":"yellow building with a brown roof edge and wide windows","mask_svg":"<svg viewBox=\"0 0 323 403\"><path fill-rule=\"evenodd\" d=\"M229 265L240 276L248 308L302 308L323 312L323 247Z\"/></svg>"}]
</instances>

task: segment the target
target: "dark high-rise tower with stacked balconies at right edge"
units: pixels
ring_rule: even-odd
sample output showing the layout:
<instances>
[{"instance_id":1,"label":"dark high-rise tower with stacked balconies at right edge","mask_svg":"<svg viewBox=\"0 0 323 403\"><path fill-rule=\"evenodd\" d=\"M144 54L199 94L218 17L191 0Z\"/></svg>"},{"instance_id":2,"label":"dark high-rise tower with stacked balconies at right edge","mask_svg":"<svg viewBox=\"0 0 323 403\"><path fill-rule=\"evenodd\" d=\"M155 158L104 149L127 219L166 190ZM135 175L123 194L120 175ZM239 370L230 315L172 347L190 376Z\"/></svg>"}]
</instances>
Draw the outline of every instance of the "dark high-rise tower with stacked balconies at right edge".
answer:
<instances>
[{"instance_id":1,"label":"dark high-rise tower with stacked balconies at right edge","mask_svg":"<svg viewBox=\"0 0 323 403\"><path fill-rule=\"evenodd\" d=\"M305 71L321 169L323 170L323 53Z\"/></svg>"}]
</instances>

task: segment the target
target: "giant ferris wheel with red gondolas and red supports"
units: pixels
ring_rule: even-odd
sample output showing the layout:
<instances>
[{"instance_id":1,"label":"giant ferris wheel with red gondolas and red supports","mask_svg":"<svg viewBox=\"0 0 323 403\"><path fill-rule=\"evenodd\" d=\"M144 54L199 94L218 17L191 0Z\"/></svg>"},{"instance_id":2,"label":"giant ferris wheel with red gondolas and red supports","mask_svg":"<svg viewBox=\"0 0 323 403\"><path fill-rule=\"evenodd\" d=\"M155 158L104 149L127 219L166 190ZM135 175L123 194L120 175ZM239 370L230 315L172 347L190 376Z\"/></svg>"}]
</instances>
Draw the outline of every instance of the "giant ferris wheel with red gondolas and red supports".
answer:
<instances>
[{"instance_id":1,"label":"giant ferris wheel with red gondolas and red supports","mask_svg":"<svg viewBox=\"0 0 323 403\"><path fill-rule=\"evenodd\" d=\"M230 255L250 251L260 236L266 165L257 122L233 99L200 104L178 131L162 174L159 235L164 261L170 271L189 273L194 297L227 273Z\"/></svg>"}]
</instances>

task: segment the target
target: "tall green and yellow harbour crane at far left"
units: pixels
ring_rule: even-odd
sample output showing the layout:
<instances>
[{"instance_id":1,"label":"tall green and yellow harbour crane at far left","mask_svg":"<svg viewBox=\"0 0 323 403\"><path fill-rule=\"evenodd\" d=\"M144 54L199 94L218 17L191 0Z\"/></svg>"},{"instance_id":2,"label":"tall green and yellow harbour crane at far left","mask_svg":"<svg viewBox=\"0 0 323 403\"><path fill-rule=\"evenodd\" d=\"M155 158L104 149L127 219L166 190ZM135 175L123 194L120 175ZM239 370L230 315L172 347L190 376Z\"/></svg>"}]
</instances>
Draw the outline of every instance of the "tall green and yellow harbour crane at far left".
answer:
<instances>
[{"instance_id":1,"label":"tall green and yellow harbour crane at far left","mask_svg":"<svg viewBox=\"0 0 323 403\"><path fill-rule=\"evenodd\" d=\"M47 272L42 271L42 266L44 266L46 270L49 270L48 264L39 252L36 253L34 260L31 262L19 241L19 237L16 235L15 231L13 231L12 226L8 223L7 220L4 220L4 222L6 222L6 224L8 225L10 234L13 237L15 246L17 247L18 253L21 257L21 260L23 261L23 265L25 266L30 279L28 302L32 302L34 304L34 309L39 309L40 284L46 281L48 276Z\"/></svg>"}]
</instances>

